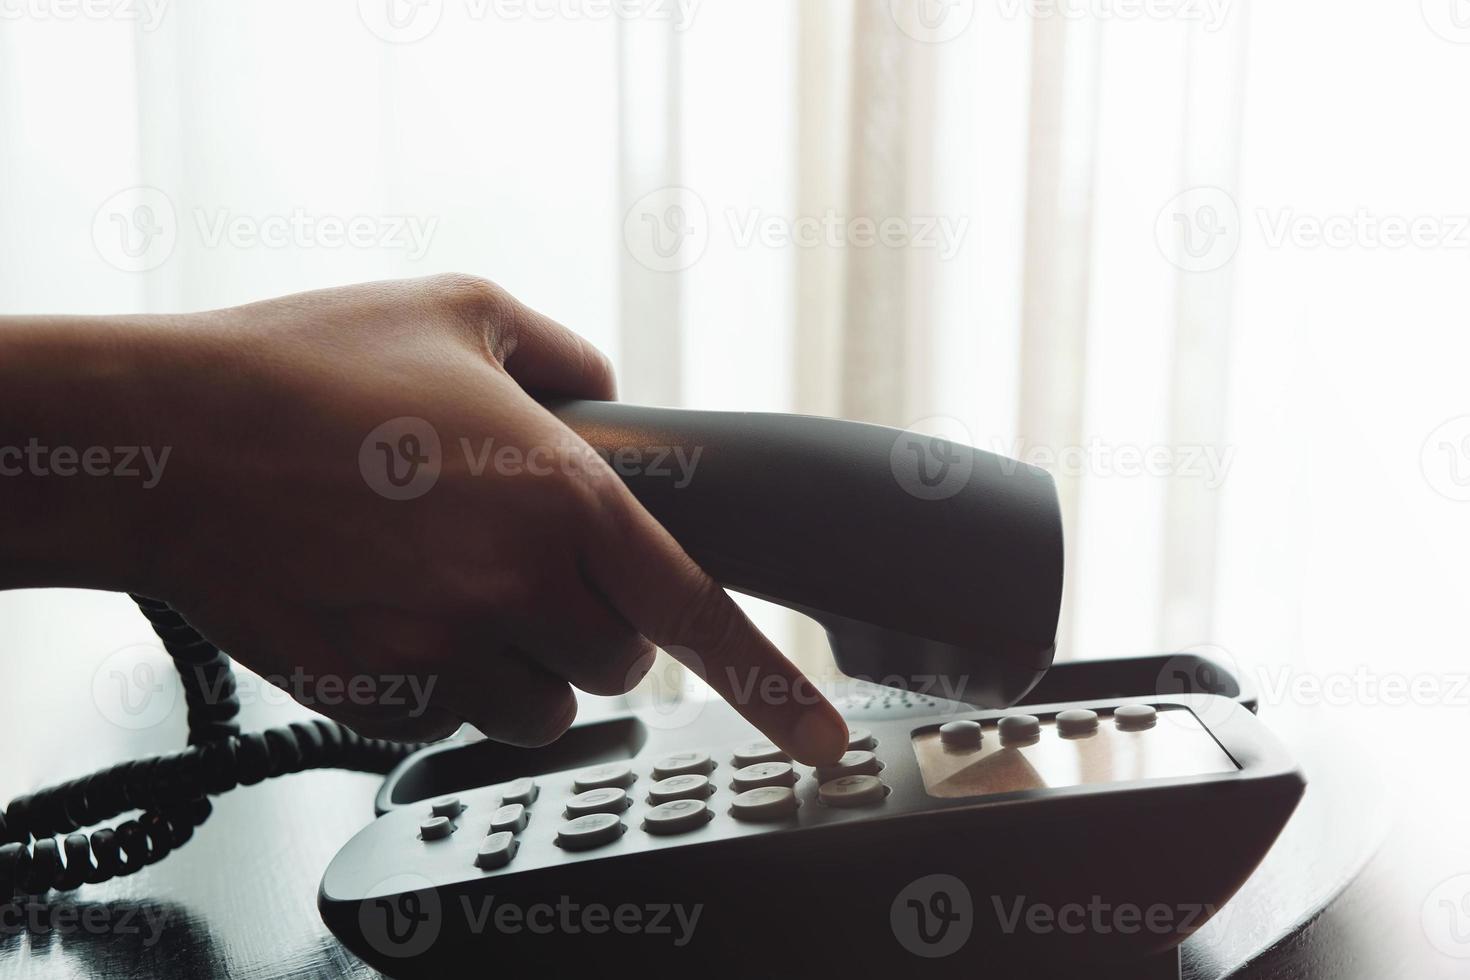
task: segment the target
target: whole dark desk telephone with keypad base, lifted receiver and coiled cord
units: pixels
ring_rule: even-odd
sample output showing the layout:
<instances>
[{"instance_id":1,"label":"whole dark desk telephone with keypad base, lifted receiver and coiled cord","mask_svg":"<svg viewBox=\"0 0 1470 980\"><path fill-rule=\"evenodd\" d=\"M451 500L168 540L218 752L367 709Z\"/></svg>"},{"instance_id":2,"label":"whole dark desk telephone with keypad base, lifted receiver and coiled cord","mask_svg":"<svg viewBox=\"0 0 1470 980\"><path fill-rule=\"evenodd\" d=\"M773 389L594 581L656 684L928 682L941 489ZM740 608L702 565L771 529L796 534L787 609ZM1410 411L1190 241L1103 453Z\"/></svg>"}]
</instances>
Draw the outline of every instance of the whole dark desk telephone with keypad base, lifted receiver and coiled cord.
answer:
<instances>
[{"instance_id":1,"label":"whole dark desk telephone with keypad base, lifted receiver and coiled cord","mask_svg":"<svg viewBox=\"0 0 1470 980\"><path fill-rule=\"evenodd\" d=\"M182 845L209 796L338 767L387 780L378 820L328 867L319 908L392 976L476 958L603 968L613 954L773 976L1038 956L1173 976L1198 915L1042 932L1028 908L1219 908L1295 808L1299 773L1248 692L1207 661L1169 661L1219 677L1176 695L1158 692L1157 660L1048 673L1063 558L1042 470L832 419L550 407L610 458L629 447L698 458L678 485L620 475L716 580L816 619L845 674L885 685L839 704L839 763L797 765L719 702L688 726L634 713L544 749L398 745L326 720L241 733L228 657L135 597L179 669L190 745L13 801L0 893L131 874ZM935 679L957 699L926 693ZM989 908L997 898L1019 911ZM520 914L700 911L672 945L606 921L507 930L487 899Z\"/></svg>"}]
</instances>

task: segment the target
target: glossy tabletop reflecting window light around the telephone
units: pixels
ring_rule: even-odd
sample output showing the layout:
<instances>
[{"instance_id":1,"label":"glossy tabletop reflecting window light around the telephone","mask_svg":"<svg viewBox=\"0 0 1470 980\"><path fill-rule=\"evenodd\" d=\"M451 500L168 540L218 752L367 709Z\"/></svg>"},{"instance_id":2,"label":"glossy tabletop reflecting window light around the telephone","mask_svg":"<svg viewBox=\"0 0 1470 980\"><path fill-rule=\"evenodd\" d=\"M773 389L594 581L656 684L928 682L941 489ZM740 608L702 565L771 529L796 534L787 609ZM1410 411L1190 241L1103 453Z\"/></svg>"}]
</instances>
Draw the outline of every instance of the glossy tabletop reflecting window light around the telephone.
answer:
<instances>
[{"instance_id":1,"label":"glossy tabletop reflecting window light around the telephone","mask_svg":"<svg viewBox=\"0 0 1470 980\"><path fill-rule=\"evenodd\" d=\"M148 639L126 599L0 594L0 621L9 623L0 629L6 801L182 745L181 705L138 730L98 708L106 695L94 695L94 682L118 663L116 651ZM243 724L303 714L259 696ZM1297 754L1310 786L1263 867L1186 943L1183 976L1470 976L1470 958L1455 955L1470 956L1470 877L1457 880L1470 873L1460 718L1291 707L1263 708L1263 718ZM28 908L26 921L4 923L0 976L376 976L316 911L322 870L372 818L376 785L375 776L310 771L216 798L210 820L162 862L53 895Z\"/></svg>"}]
</instances>

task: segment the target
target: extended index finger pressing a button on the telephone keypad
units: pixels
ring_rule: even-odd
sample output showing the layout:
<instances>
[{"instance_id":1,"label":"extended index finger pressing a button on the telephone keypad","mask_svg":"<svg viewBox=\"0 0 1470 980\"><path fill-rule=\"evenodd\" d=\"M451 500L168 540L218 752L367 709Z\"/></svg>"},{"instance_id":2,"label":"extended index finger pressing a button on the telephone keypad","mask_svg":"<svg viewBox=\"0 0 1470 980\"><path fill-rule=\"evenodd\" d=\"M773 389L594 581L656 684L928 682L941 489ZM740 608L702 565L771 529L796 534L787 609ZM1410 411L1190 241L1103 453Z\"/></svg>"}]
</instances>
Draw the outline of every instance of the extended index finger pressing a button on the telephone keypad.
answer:
<instances>
[{"instance_id":1,"label":"extended index finger pressing a button on the telephone keypad","mask_svg":"<svg viewBox=\"0 0 1470 980\"><path fill-rule=\"evenodd\" d=\"M675 658L697 654L704 679L745 720L808 765L847 751L847 723L795 664L679 547L616 478L584 555L609 602Z\"/></svg>"}]
</instances>

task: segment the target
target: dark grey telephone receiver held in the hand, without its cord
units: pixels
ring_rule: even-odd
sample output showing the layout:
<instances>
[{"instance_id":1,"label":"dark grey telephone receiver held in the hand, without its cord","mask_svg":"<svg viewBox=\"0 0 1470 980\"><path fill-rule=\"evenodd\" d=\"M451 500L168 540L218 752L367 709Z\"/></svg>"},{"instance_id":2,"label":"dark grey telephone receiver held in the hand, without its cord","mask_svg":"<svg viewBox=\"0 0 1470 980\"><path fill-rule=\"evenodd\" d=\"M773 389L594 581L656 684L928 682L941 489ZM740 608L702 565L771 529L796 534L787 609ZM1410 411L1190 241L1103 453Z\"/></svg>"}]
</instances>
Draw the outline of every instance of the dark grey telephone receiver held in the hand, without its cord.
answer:
<instances>
[{"instance_id":1,"label":"dark grey telephone receiver held in the hand, without its cord","mask_svg":"<svg viewBox=\"0 0 1470 980\"><path fill-rule=\"evenodd\" d=\"M1000 708L1051 666L1063 558L1045 470L838 419L550 408L720 585L826 627L850 677L916 691L944 679L951 696Z\"/></svg>"}]
</instances>

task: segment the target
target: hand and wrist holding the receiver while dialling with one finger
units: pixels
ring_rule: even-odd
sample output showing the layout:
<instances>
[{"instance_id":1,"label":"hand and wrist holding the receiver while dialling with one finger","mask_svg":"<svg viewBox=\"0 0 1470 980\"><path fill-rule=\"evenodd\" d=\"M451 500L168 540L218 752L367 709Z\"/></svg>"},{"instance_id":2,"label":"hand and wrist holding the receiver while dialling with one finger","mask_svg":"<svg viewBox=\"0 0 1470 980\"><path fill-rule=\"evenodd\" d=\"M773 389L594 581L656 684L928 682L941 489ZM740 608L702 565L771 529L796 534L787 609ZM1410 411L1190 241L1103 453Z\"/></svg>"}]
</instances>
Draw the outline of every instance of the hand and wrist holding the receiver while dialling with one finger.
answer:
<instances>
[{"instance_id":1,"label":"hand and wrist holding the receiver while dialling with one finger","mask_svg":"<svg viewBox=\"0 0 1470 980\"><path fill-rule=\"evenodd\" d=\"M12 567L40 569L28 580L12 570L9 585L165 598L368 735L435 738L465 720L539 745L572 723L573 686L625 692L659 645L795 758L845 749L836 711L528 394L612 398L607 360L485 281L13 320L0 347L7 338L16 363L43 373L72 351L71 370L94 386L93 411L40 406L22 426L168 453L148 489L74 479L51 494L59 478L34 475L12 486L7 505L94 527L82 544L96 554L47 560L21 542ZM22 388L28 406L59 397L44 378ZM10 428L0 442L26 435ZM98 525L97 508L116 520Z\"/></svg>"}]
</instances>

